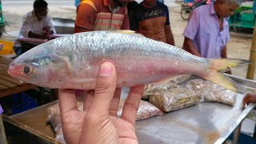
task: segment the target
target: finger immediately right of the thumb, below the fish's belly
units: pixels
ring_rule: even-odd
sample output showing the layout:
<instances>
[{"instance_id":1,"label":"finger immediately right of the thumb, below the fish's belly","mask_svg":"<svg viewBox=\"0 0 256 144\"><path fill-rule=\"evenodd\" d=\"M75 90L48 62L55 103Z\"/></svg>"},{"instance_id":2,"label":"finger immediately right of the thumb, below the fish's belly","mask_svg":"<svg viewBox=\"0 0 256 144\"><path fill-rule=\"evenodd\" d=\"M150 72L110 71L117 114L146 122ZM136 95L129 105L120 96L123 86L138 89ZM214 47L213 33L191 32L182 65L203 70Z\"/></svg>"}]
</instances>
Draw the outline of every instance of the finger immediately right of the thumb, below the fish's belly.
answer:
<instances>
[{"instance_id":1,"label":"finger immediately right of the thumb, below the fish's belly","mask_svg":"<svg viewBox=\"0 0 256 144\"><path fill-rule=\"evenodd\" d=\"M112 115L112 116L117 116L121 92L122 92L122 88L117 88L114 91L114 97L112 98L112 100L110 102L110 110L109 110L110 115Z\"/></svg>"}]
</instances>

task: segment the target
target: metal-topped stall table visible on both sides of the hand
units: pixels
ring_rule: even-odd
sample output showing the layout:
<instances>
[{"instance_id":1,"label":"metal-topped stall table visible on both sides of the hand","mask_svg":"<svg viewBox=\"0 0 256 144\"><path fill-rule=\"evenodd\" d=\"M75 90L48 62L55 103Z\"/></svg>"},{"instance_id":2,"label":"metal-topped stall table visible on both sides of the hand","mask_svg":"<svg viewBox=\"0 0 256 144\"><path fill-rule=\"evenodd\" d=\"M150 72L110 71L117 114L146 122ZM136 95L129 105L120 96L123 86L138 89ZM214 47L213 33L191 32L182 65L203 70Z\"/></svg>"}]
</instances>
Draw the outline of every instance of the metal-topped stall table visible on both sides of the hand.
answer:
<instances>
[{"instance_id":1,"label":"metal-topped stall table visible on both sides of the hand","mask_svg":"<svg viewBox=\"0 0 256 144\"><path fill-rule=\"evenodd\" d=\"M244 78L230 76L241 86L256 89L256 83ZM125 97L127 90L123 90ZM140 143L222 143L256 106L251 104L242 110L242 94L238 94L234 106L218 102L201 102L182 110L175 110L136 122ZM50 102L21 114L3 117L6 133L12 137L10 126L34 135L42 143L56 143L54 130L46 123L46 110L56 104ZM234 137L238 135L234 134ZM30 136L31 137L31 136ZM15 140L18 137L15 137ZM23 137L24 138L24 137ZM35 141L37 142L37 141Z\"/></svg>"}]
</instances>

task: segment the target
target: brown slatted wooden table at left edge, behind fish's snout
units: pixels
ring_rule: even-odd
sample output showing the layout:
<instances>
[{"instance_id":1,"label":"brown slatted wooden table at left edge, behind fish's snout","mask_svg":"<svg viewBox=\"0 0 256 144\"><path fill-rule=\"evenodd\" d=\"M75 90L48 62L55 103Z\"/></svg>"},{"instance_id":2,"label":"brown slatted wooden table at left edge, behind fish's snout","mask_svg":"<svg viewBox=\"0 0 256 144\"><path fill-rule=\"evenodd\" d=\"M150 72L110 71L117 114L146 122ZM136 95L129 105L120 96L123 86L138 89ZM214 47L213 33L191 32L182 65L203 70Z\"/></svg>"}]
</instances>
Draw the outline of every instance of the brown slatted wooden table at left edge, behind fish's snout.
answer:
<instances>
[{"instance_id":1,"label":"brown slatted wooden table at left edge, behind fish's snout","mask_svg":"<svg viewBox=\"0 0 256 144\"><path fill-rule=\"evenodd\" d=\"M38 87L10 77L7 73L10 62L13 59L0 57L0 98Z\"/></svg>"}]
</instances>

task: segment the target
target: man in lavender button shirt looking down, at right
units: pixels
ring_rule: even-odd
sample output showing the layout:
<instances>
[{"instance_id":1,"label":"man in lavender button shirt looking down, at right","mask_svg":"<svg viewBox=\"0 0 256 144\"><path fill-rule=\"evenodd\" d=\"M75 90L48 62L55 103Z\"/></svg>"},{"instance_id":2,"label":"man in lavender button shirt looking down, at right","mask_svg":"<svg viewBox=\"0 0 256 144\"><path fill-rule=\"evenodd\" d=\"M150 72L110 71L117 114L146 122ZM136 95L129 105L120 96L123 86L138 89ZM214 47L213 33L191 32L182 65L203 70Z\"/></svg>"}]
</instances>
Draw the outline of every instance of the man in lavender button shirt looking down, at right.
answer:
<instances>
[{"instance_id":1,"label":"man in lavender button shirt looking down, at right","mask_svg":"<svg viewBox=\"0 0 256 144\"><path fill-rule=\"evenodd\" d=\"M183 49L202 58L227 58L228 17L241 3L242 0L216 0L193 10L183 33Z\"/></svg>"}]
</instances>

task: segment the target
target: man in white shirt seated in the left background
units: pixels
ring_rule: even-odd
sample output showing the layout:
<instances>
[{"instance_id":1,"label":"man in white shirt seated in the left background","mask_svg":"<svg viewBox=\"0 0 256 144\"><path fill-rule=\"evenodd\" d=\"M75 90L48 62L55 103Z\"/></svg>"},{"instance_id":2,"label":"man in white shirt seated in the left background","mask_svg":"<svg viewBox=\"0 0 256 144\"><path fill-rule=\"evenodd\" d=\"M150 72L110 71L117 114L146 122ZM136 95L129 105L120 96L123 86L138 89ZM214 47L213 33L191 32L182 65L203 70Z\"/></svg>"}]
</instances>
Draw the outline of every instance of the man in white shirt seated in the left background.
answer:
<instances>
[{"instance_id":1,"label":"man in white shirt seated in the left background","mask_svg":"<svg viewBox=\"0 0 256 144\"><path fill-rule=\"evenodd\" d=\"M50 34L55 33L55 28L52 18L47 14L48 4L44 0L34 1L34 10L27 13L22 20L22 28L19 32L18 37L25 38L41 38L48 39ZM24 53L30 50L35 45L27 44L23 46L21 42L14 42L14 50L16 53ZM22 52L20 48L22 47ZM19 51L18 51L19 50Z\"/></svg>"}]
</instances>

